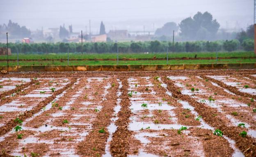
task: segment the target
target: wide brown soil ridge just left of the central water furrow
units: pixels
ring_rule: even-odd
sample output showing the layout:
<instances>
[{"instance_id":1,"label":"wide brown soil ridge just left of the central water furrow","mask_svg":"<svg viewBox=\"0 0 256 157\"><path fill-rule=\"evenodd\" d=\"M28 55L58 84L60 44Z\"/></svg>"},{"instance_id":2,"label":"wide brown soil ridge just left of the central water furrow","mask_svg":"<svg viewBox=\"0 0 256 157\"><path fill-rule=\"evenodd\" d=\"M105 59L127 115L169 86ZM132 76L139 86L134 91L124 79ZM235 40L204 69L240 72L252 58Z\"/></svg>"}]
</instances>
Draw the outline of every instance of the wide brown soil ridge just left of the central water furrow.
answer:
<instances>
[{"instance_id":1,"label":"wide brown soil ridge just left of the central water furrow","mask_svg":"<svg viewBox=\"0 0 256 157\"><path fill-rule=\"evenodd\" d=\"M114 107L117 105L118 82L113 77L110 82L111 84L114 83L115 86L110 88L109 93L106 95L106 100L102 102L103 107L92 124L92 130L85 140L77 146L78 154L84 157L100 157L105 153L105 146L109 137L107 126L110 125ZM99 133L101 129L104 130L104 133Z\"/></svg>"}]
</instances>

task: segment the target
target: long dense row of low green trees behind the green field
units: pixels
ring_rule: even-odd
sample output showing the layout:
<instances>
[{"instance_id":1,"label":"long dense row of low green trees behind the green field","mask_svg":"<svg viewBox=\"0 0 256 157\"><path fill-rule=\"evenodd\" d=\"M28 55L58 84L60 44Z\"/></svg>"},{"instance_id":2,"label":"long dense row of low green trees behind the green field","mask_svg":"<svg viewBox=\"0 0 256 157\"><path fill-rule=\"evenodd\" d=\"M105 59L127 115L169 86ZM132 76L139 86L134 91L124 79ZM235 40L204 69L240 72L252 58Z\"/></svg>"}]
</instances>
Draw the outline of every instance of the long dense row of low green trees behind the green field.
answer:
<instances>
[{"instance_id":1,"label":"long dense row of low green trees behind the green field","mask_svg":"<svg viewBox=\"0 0 256 157\"><path fill-rule=\"evenodd\" d=\"M0 43L0 47L6 47ZM253 51L254 40L246 39L242 43L239 40L217 41L192 41L172 42L147 41L147 42L86 42L86 43L9 43L12 53L159 53L166 52L217 52L217 51Z\"/></svg>"}]
</instances>

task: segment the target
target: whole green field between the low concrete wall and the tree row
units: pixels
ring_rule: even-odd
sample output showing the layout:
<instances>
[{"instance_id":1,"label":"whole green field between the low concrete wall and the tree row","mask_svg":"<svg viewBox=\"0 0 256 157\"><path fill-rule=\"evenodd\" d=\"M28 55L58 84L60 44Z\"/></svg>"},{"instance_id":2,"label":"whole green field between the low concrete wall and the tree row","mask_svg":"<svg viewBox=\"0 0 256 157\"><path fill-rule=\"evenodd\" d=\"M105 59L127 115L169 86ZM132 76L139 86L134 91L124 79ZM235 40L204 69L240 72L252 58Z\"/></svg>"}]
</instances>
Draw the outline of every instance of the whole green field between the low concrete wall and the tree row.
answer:
<instances>
[{"instance_id":1,"label":"whole green field between the low concrete wall and the tree row","mask_svg":"<svg viewBox=\"0 0 256 157\"><path fill-rule=\"evenodd\" d=\"M197 57L216 57L216 53L169 53L169 58L181 58L181 57L194 57L197 54ZM255 57L256 55L253 52L231 52L217 53L218 57ZM129 53L129 54L119 54L119 58L165 58L166 53ZM0 56L0 66L7 65L7 62L4 61L7 56ZM70 59L116 59L117 54L105 53L105 54L70 54ZM9 56L9 59L15 61L9 61L10 66L17 65L17 55L12 54ZM19 55L19 65L67 65L67 54L20 54ZM49 61L21 61L21 60L43 60L49 59ZM55 59L63 59L63 61L58 61ZM54 61L52 61L54 60ZM168 64L212 64L212 63L256 63L256 59L222 59L222 60L169 60ZM69 65L115 65L117 61L87 61L87 60L76 60L69 61ZM167 64L166 60L136 60L136 61L119 61L119 65L127 64Z\"/></svg>"}]
</instances>

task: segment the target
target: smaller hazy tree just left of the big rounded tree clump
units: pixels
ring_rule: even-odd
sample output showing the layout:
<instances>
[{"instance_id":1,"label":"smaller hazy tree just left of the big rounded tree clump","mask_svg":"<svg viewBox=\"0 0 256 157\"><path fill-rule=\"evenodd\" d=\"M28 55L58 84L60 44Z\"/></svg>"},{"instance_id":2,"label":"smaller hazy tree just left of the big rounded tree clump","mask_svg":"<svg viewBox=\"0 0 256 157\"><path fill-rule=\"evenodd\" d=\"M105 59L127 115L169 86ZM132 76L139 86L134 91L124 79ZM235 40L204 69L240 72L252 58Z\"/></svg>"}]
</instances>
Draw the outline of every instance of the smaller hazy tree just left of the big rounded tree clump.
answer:
<instances>
[{"instance_id":1,"label":"smaller hazy tree just left of the big rounded tree clump","mask_svg":"<svg viewBox=\"0 0 256 157\"><path fill-rule=\"evenodd\" d=\"M155 35L158 36L172 36L173 31L178 31L179 27L175 22L168 22L162 28L159 28L155 31Z\"/></svg>"}]
</instances>

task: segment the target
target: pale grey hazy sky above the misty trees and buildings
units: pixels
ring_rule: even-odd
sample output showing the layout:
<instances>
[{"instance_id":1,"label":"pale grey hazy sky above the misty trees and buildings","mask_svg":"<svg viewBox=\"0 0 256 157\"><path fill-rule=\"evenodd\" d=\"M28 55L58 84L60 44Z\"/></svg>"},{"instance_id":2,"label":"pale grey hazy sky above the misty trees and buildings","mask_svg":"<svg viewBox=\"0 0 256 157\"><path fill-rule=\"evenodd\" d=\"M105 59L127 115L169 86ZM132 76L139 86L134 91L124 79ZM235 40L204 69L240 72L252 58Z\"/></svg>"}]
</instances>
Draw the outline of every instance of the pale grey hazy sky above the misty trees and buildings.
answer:
<instances>
[{"instance_id":1,"label":"pale grey hazy sky above the misty trees and buildings","mask_svg":"<svg viewBox=\"0 0 256 157\"><path fill-rule=\"evenodd\" d=\"M9 19L27 28L66 28L98 33L103 20L106 31L152 31L166 22L181 22L197 11L208 11L222 28L253 24L254 0L0 0L0 24Z\"/></svg>"}]
</instances>

